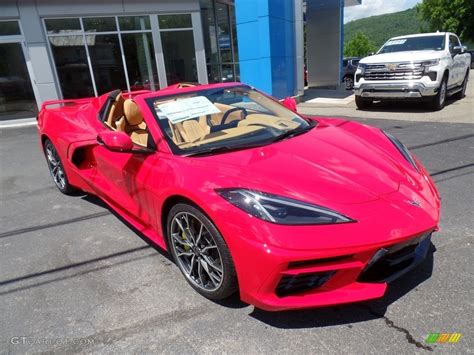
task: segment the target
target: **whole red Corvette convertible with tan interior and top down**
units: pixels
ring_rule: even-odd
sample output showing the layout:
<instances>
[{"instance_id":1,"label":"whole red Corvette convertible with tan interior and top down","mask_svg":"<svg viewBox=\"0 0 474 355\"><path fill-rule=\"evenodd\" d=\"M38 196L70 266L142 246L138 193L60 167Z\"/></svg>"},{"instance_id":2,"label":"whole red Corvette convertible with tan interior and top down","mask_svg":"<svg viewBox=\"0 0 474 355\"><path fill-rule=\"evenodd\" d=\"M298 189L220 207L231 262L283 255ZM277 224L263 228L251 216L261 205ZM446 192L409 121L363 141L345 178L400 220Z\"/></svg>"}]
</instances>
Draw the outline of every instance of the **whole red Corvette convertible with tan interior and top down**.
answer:
<instances>
[{"instance_id":1,"label":"whole red Corvette convertible with tan interior and top down","mask_svg":"<svg viewBox=\"0 0 474 355\"><path fill-rule=\"evenodd\" d=\"M50 101L38 128L58 189L104 200L209 299L382 297L438 229L438 191L396 137L244 84Z\"/></svg>"}]
</instances>

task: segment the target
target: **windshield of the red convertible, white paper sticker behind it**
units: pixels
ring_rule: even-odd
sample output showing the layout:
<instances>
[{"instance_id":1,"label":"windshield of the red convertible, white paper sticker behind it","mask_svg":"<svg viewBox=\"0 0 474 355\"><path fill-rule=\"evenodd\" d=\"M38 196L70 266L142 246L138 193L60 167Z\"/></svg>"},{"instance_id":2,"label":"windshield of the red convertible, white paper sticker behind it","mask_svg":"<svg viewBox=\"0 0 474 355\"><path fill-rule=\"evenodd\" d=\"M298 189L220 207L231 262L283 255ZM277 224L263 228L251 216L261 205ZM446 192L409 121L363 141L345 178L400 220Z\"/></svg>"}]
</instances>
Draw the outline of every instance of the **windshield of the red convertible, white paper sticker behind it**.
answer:
<instances>
[{"instance_id":1,"label":"windshield of the red convertible, white paper sticker behind it","mask_svg":"<svg viewBox=\"0 0 474 355\"><path fill-rule=\"evenodd\" d=\"M175 154L198 155L270 144L315 122L248 86L147 99Z\"/></svg>"}]
</instances>

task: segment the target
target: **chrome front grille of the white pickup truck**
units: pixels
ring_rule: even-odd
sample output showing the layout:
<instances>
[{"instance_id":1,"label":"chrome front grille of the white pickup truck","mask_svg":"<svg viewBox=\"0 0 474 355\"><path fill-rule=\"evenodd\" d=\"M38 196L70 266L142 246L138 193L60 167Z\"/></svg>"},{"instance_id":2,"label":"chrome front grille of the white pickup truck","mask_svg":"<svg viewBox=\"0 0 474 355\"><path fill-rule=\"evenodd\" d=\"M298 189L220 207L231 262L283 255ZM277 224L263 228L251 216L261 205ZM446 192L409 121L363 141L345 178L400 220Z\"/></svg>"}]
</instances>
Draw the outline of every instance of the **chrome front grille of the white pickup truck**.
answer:
<instances>
[{"instance_id":1,"label":"chrome front grille of the white pickup truck","mask_svg":"<svg viewBox=\"0 0 474 355\"><path fill-rule=\"evenodd\" d=\"M416 63L390 63L367 65L365 80L413 80L423 77L423 66Z\"/></svg>"}]
</instances>

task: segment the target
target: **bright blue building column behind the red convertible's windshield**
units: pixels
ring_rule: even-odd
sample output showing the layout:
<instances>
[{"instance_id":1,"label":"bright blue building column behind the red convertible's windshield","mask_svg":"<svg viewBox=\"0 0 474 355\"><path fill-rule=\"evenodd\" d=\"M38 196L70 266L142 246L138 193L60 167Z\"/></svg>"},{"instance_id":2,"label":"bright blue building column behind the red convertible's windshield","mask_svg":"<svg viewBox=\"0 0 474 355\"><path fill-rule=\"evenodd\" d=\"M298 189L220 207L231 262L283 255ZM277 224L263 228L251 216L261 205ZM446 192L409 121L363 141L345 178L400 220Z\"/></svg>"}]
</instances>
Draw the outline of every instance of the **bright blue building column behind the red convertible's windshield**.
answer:
<instances>
[{"instance_id":1,"label":"bright blue building column behind the red convertible's windshield","mask_svg":"<svg viewBox=\"0 0 474 355\"><path fill-rule=\"evenodd\" d=\"M235 6L242 81L278 98L294 95L294 2L236 0Z\"/></svg>"}]
</instances>

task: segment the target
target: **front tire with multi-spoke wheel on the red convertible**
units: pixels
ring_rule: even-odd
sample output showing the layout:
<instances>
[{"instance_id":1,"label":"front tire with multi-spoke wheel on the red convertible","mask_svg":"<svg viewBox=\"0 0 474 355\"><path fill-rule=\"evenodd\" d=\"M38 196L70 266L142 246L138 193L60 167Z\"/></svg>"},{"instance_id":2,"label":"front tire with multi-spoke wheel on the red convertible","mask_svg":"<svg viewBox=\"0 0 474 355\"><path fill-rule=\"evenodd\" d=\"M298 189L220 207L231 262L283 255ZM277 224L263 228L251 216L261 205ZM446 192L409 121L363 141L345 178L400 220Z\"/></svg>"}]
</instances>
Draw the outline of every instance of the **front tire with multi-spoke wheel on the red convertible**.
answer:
<instances>
[{"instance_id":1,"label":"front tire with multi-spoke wheel on the red convertible","mask_svg":"<svg viewBox=\"0 0 474 355\"><path fill-rule=\"evenodd\" d=\"M211 300L237 291L237 275L229 249L211 220L186 203L173 206L167 217L170 253L186 281Z\"/></svg>"}]
</instances>

